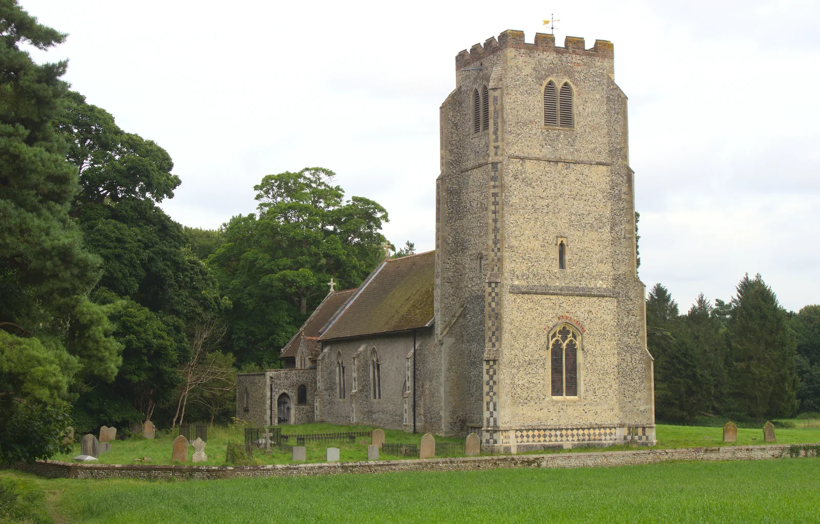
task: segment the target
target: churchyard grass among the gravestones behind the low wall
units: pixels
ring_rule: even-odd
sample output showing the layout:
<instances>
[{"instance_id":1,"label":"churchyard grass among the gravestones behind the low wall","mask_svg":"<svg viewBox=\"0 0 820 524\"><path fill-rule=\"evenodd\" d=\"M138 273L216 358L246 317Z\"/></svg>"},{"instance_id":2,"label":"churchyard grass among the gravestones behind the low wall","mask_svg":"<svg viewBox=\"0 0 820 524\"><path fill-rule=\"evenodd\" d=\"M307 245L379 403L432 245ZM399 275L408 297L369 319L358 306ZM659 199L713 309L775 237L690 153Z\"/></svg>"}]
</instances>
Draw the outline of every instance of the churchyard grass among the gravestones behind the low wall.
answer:
<instances>
[{"instance_id":1,"label":"churchyard grass among the gravestones behind the low wall","mask_svg":"<svg viewBox=\"0 0 820 524\"><path fill-rule=\"evenodd\" d=\"M820 443L820 425L810 421L795 420L795 428L778 428L776 430L778 444L814 444ZM305 424L301 426L283 426L285 433L321 433L333 431L371 431L370 426L334 426L330 424ZM722 428L704 426L666 426L659 424L656 428L658 444L657 449L670 448L690 448L697 446L723 446L723 445L749 445L763 444L763 430L740 428L737 431L737 443L729 444L722 442ZM418 443L421 435L405 433L399 430L385 430L387 442ZM704 438L708 437L708 439ZM127 439L112 442L111 453L103 453L99 457L98 463L108 464L132 464L134 458L150 457L153 464L171 463L171 449L175 435L159 434L156 439ZM205 448L207 462L206 466L222 466L225 464L225 446L228 440L244 441L244 430L241 426L235 427L213 427L208 430L208 441ZM346 442L311 443L307 442L307 462L325 462L326 448L330 446L339 448L339 457L343 462L367 460L367 446L359 444L362 438L356 440L355 444ZM459 438L436 437L436 440L461 441ZM623 449L623 446L609 446L608 448L577 448L572 451L601 451ZM190 454L193 449L189 449ZM544 453L544 451L532 451L527 453ZM563 450L560 451L563 453ZM80 444L75 444L74 451L65 455L59 455L54 460L71 462L71 458L80 454ZM288 453L256 453L255 456L259 464L285 464L290 462ZM386 453L381 453L380 458L401 459Z\"/></svg>"}]
</instances>

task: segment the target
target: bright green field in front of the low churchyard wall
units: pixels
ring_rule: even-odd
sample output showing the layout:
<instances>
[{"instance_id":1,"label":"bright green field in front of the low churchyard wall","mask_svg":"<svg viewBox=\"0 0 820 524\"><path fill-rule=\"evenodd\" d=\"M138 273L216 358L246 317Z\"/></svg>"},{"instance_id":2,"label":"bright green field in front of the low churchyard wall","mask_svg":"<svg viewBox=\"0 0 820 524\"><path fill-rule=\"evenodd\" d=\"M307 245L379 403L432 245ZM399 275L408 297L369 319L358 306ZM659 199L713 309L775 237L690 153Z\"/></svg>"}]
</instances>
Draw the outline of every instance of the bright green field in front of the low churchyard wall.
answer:
<instances>
[{"instance_id":1,"label":"bright green field in front of the low churchyard wall","mask_svg":"<svg viewBox=\"0 0 820 524\"><path fill-rule=\"evenodd\" d=\"M224 481L2 477L43 490L67 523L817 522L820 458Z\"/></svg>"}]
</instances>

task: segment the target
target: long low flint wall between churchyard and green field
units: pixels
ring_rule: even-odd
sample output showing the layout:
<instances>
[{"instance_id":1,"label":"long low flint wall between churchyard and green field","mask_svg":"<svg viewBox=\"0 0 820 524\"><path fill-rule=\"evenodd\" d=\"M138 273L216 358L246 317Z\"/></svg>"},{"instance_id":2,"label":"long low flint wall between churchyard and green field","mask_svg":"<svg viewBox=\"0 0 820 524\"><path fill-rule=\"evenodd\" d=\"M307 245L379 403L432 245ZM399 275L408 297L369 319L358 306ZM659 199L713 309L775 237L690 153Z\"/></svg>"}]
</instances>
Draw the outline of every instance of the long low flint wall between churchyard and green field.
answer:
<instances>
[{"instance_id":1,"label":"long low flint wall between churchyard and green field","mask_svg":"<svg viewBox=\"0 0 820 524\"><path fill-rule=\"evenodd\" d=\"M815 447L820 444L796 444ZM38 460L16 462L13 468L48 478L140 478L223 479L252 476L314 476L341 473L463 472L513 467L603 467L653 464L667 460L764 460L790 457L789 444L722 446L683 449L631 449L540 455L495 455L490 457L427 458L372 462L318 462L266 466L188 466L148 464L86 464ZM799 452L807 455L806 449Z\"/></svg>"}]
</instances>

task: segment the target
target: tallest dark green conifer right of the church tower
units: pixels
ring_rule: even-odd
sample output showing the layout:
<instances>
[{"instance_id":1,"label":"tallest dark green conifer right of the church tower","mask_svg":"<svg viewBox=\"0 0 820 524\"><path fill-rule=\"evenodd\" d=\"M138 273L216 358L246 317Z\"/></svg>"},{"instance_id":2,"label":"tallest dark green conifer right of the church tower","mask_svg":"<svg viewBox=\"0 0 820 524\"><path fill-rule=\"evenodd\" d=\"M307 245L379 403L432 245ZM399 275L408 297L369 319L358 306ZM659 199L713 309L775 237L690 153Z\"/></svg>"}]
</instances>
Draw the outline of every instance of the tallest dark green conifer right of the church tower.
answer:
<instances>
[{"instance_id":1,"label":"tallest dark green conifer right of the church tower","mask_svg":"<svg viewBox=\"0 0 820 524\"><path fill-rule=\"evenodd\" d=\"M797 408L795 334L786 311L758 274L744 276L728 322L731 396L749 415L788 417Z\"/></svg>"}]
</instances>

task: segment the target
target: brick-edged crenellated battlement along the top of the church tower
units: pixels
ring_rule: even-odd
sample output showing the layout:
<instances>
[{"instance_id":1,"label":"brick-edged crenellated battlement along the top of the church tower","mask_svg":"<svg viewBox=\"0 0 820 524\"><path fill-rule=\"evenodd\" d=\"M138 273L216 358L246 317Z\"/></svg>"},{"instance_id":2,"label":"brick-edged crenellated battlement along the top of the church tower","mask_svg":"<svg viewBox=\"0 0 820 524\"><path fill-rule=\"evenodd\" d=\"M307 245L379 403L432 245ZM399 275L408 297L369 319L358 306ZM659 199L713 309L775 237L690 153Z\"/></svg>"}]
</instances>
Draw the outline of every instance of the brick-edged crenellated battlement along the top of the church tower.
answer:
<instances>
[{"instance_id":1,"label":"brick-edged crenellated battlement along the top of the church tower","mask_svg":"<svg viewBox=\"0 0 820 524\"><path fill-rule=\"evenodd\" d=\"M456 55L456 69L470 66L476 62L480 62L485 57L489 57L494 52L503 48L522 48L522 49L538 49L548 52L571 52L576 54L585 54L597 57L613 58L615 56L615 48L612 42L608 40L595 40L594 45L590 49L584 48L584 39L567 36L564 39L563 48L555 45L554 34L535 33L535 43L524 42L524 32L516 30L506 30L499 34L498 40L495 37L487 39L482 46L481 43L470 48L468 52L464 49Z\"/></svg>"}]
</instances>

